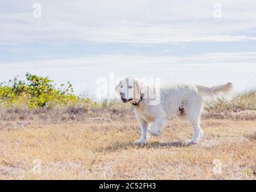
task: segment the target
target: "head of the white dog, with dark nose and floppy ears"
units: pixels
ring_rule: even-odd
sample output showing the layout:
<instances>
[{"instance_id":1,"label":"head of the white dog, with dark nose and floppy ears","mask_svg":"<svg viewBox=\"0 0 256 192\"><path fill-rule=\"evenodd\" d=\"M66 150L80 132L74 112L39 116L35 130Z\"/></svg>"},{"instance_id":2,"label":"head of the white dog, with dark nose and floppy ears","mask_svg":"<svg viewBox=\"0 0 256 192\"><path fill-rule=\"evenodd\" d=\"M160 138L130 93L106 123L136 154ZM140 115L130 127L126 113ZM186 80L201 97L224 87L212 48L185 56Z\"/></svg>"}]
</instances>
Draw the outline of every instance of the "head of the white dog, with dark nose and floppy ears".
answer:
<instances>
[{"instance_id":1,"label":"head of the white dog, with dark nose and floppy ears","mask_svg":"<svg viewBox=\"0 0 256 192\"><path fill-rule=\"evenodd\" d=\"M116 86L115 91L124 103L136 102L142 94L142 83L132 77L126 77Z\"/></svg>"}]
</instances>

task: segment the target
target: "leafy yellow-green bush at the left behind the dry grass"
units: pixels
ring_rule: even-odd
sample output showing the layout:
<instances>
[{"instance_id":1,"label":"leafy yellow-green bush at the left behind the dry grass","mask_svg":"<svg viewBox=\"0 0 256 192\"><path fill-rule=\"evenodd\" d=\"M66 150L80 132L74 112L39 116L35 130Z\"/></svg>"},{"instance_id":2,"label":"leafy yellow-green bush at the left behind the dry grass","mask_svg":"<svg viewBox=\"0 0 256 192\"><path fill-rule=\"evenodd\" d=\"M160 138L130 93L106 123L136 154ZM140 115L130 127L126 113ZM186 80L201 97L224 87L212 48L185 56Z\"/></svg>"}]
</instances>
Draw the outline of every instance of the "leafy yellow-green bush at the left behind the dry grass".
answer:
<instances>
[{"instance_id":1,"label":"leafy yellow-green bush at the left behind the dry grass","mask_svg":"<svg viewBox=\"0 0 256 192\"><path fill-rule=\"evenodd\" d=\"M8 104L26 103L29 108L50 107L54 104L74 105L83 100L73 94L70 82L56 88L47 77L30 73L26 73L25 81L15 77L8 83L0 83L0 98Z\"/></svg>"}]
</instances>

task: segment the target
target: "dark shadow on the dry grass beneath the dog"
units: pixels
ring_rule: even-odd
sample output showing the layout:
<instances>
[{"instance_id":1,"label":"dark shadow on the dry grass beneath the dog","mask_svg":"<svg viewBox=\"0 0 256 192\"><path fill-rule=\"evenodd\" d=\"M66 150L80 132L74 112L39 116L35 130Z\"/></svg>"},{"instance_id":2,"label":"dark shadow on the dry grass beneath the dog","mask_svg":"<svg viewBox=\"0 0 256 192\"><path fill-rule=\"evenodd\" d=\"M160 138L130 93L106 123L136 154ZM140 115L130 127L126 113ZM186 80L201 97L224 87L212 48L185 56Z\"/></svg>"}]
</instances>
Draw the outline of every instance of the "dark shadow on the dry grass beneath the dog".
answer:
<instances>
[{"instance_id":1,"label":"dark shadow on the dry grass beneath the dog","mask_svg":"<svg viewBox=\"0 0 256 192\"><path fill-rule=\"evenodd\" d=\"M121 143L121 142L115 142L111 143L111 145L106 146L104 148L100 148L97 151L99 152L113 152L113 151L118 151L120 149L128 149L128 148L147 148L147 149L158 149L158 148L185 148L190 146L187 143L184 142L151 142L151 143L145 143L142 145L136 145L135 143L129 142L129 143Z\"/></svg>"}]
</instances>

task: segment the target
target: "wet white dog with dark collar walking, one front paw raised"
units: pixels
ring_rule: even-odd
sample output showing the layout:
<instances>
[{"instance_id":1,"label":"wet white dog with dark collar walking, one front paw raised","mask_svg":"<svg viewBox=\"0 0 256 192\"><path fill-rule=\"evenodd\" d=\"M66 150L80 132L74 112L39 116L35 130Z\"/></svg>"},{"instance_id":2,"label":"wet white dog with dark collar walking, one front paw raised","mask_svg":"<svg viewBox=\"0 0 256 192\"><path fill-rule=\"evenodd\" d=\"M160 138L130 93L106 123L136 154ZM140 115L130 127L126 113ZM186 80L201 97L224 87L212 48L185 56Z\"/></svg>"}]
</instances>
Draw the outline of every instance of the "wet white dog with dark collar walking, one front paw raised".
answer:
<instances>
[{"instance_id":1,"label":"wet white dog with dark collar walking, one front paw raised","mask_svg":"<svg viewBox=\"0 0 256 192\"><path fill-rule=\"evenodd\" d=\"M192 124L194 135L189 144L195 144L203 137L200 117L203 111L204 96L227 94L232 88L232 83L211 88L186 84L165 86L160 88L159 97L156 97L159 98L159 102L153 102L153 104L148 93L156 91L155 88L144 85L132 77L121 80L115 90L120 94L124 103L130 103L135 108L135 115L141 125L141 138L135 142L136 144L147 142L147 132L153 136L159 136L168 116L175 116Z\"/></svg>"}]
</instances>

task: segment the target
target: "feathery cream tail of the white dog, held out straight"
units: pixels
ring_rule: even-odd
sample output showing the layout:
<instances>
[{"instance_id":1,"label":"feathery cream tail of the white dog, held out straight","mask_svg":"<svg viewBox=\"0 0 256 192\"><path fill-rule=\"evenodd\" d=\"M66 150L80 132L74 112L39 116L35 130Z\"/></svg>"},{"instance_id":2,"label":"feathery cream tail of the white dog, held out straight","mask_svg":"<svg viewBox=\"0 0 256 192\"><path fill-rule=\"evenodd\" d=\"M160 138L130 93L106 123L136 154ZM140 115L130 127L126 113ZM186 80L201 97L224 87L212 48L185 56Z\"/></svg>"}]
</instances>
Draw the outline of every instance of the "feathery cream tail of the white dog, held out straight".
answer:
<instances>
[{"instance_id":1,"label":"feathery cream tail of the white dog, held out straight","mask_svg":"<svg viewBox=\"0 0 256 192\"><path fill-rule=\"evenodd\" d=\"M198 92L200 92L200 94L205 95L205 96L210 96L210 97L217 95L219 93L228 94L228 92L230 92L231 89L233 89L233 83L216 85L216 86L212 86L210 88L208 88L207 86L203 86L203 85L196 85L196 86L197 86Z\"/></svg>"}]
</instances>

